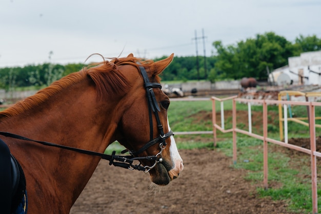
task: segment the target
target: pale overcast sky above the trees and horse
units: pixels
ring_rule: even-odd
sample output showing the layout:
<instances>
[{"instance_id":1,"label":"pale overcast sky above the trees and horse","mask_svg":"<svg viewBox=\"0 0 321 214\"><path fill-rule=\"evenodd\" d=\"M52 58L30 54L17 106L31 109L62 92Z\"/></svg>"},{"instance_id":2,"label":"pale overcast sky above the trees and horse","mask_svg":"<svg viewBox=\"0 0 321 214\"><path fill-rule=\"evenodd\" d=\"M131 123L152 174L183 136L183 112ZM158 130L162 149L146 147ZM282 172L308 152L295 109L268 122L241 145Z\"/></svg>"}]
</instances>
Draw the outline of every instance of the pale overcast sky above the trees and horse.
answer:
<instances>
[{"instance_id":1,"label":"pale overcast sky above the trees and horse","mask_svg":"<svg viewBox=\"0 0 321 214\"><path fill-rule=\"evenodd\" d=\"M213 41L271 31L291 42L320 38L320 11L319 0L1 0L0 68L84 63L94 53L195 56L195 41L210 56Z\"/></svg>"}]
</instances>

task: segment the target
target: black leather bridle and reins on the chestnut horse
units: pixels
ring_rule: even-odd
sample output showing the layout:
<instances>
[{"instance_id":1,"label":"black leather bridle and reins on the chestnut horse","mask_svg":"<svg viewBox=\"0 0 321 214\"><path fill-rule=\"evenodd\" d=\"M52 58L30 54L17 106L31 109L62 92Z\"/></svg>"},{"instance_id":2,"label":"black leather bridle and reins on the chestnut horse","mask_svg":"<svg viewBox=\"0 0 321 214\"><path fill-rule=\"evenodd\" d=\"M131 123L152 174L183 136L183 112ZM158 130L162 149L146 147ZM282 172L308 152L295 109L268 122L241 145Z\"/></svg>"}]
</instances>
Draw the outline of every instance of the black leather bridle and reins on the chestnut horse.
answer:
<instances>
[{"instance_id":1,"label":"black leather bridle and reins on the chestnut horse","mask_svg":"<svg viewBox=\"0 0 321 214\"><path fill-rule=\"evenodd\" d=\"M50 143L46 141L38 141L26 138L24 136L16 135L9 132L0 132L0 135L10 138L15 138L19 140L26 140L26 141L33 141L36 143L40 143L46 146L52 146L52 147L58 147L67 149L69 151L74 151L86 155L92 155L92 156L98 156L102 159L109 160L109 165L119 166L123 168L128 168L130 170L137 169L144 171L145 173L149 172L152 168L156 166L157 163L163 162L162 153L164 149L166 148L166 139L171 137L173 134L172 131L169 131L168 133L164 134L164 129L162 123L160 123L160 119L158 116L158 112L160 112L159 105L157 103L155 93L153 91L153 88L162 88L162 85L158 82L150 82L149 77L147 75L147 72L143 66L139 64L139 71L141 72L143 78L144 78L144 87L146 89L146 95L147 95L147 103L148 103L148 114L149 114L149 129L150 129L150 141L147 142L143 147L139 148L138 151L128 151L128 149L125 149L122 153L129 152L129 156L119 156L115 155L116 152L113 151L111 155L103 154L103 153L97 153L81 148L75 148L65 145L59 145L55 143ZM153 120L152 120L152 113L154 113L157 123L157 130L159 136L153 139ZM157 153L154 156L145 156L145 157L138 157L139 154L143 153L147 148L149 148L152 145L155 145L156 143L159 143L160 152ZM154 161L154 164L152 166L142 166L142 160L148 160L148 161ZM134 164L134 161L139 161L139 164Z\"/></svg>"}]
</instances>

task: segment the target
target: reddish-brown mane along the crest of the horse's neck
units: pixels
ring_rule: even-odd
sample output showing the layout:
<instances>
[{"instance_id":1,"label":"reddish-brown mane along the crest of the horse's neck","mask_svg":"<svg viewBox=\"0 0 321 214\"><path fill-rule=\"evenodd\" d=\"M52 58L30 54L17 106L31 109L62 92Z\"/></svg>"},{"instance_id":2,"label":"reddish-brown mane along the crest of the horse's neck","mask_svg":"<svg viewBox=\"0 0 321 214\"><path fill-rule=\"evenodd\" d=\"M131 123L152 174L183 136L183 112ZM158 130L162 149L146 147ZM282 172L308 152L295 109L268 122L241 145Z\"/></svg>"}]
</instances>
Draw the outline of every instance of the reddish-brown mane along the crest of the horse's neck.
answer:
<instances>
[{"instance_id":1,"label":"reddish-brown mane along the crest of the horse's neck","mask_svg":"<svg viewBox=\"0 0 321 214\"><path fill-rule=\"evenodd\" d=\"M137 62L141 63L145 68L151 67L153 60L146 60L136 57L109 58L111 61L104 60L99 63L92 63L88 67L84 67L81 71L71 73L55 82L49 87L38 91L35 95L27 97L7 110L0 112L0 118L18 115L26 110L31 110L40 103L45 102L55 94L62 92L64 89L77 82L83 81L90 77L96 88L97 99L106 97L114 97L119 93L125 93L129 86L129 82L120 72L119 66L132 65L138 68ZM159 81L158 76L152 76Z\"/></svg>"}]
</instances>

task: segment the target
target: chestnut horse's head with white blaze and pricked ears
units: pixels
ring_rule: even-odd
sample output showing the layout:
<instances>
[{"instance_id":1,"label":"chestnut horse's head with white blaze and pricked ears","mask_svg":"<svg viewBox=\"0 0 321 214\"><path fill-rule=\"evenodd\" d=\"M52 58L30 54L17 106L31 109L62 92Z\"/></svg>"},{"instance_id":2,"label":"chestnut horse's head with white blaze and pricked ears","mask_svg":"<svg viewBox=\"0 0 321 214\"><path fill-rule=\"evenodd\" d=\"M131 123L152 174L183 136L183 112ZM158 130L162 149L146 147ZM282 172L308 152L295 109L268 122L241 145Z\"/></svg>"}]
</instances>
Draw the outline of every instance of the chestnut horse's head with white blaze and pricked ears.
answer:
<instances>
[{"instance_id":1,"label":"chestnut horse's head with white blaze and pricked ears","mask_svg":"<svg viewBox=\"0 0 321 214\"><path fill-rule=\"evenodd\" d=\"M137 65L132 54L128 58ZM170 100L160 89L158 77L172 59L173 54L157 62L138 62L139 65L142 63L140 67L134 64L119 67L132 88L122 100L127 106L118 124L117 140L135 156L157 156L156 161L141 160L141 163L148 169L151 181L158 185L167 185L183 170L183 160L177 151L167 118ZM145 76L145 81L141 74L145 71L141 71L142 69L146 69L148 76ZM149 93L152 95L149 96Z\"/></svg>"}]
</instances>

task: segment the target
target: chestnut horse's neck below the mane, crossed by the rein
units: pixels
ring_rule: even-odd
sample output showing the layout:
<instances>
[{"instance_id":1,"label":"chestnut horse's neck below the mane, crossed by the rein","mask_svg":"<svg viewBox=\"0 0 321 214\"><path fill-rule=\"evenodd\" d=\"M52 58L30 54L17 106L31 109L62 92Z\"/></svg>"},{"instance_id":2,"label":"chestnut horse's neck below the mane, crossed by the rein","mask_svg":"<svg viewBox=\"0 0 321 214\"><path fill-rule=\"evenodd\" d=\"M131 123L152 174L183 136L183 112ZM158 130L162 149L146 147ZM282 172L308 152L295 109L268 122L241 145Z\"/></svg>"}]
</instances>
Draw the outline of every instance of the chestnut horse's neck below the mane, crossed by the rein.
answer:
<instances>
[{"instance_id":1,"label":"chestnut horse's neck below the mane, crossed by the rein","mask_svg":"<svg viewBox=\"0 0 321 214\"><path fill-rule=\"evenodd\" d=\"M84 90L85 87L88 88L88 85L78 85L65 94L55 95L38 108L1 120L0 130L35 140L103 153L113 141L117 124L117 114L113 111L117 100L110 101L108 105L105 102L103 105L102 102L97 102L94 89ZM76 91L81 93L75 93ZM68 201L70 207L100 160L34 142L9 138L6 138L6 141L12 154L25 169L27 186L46 187L47 190L42 189L44 194L50 195L50 191L53 191L57 198ZM39 182L44 183L36 185ZM72 196L66 192L71 192Z\"/></svg>"}]
</instances>

